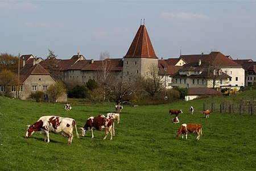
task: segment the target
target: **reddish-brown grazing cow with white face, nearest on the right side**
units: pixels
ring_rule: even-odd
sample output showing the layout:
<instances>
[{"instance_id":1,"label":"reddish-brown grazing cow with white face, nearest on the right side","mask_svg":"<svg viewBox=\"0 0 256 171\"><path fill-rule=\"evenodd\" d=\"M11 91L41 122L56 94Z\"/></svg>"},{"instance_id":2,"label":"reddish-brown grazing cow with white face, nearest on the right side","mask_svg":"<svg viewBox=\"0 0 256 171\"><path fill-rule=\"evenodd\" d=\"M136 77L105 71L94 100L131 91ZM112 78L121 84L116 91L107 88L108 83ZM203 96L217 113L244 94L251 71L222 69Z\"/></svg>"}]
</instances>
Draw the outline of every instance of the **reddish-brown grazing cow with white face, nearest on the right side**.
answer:
<instances>
[{"instance_id":1,"label":"reddish-brown grazing cow with white face, nearest on the right side","mask_svg":"<svg viewBox=\"0 0 256 171\"><path fill-rule=\"evenodd\" d=\"M199 140L200 136L203 135L202 134L202 125L194 124L194 123L181 124L179 131L176 132L176 138L180 137L180 134L182 134L182 138L183 138L183 134L185 134L186 139L188 139L188 132L196 133L197 134L196 139Z\"/></svg>"}]
</instances>

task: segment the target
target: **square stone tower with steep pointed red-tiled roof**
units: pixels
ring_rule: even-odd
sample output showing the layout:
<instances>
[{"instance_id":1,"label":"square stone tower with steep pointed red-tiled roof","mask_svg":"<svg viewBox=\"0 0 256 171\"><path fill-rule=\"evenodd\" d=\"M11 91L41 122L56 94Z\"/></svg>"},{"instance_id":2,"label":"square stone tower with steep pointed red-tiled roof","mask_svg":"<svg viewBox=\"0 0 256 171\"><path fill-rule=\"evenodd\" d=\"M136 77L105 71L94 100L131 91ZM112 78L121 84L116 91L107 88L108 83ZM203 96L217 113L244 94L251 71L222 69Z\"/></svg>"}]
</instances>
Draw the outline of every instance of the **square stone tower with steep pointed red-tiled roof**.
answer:
<instances>
[{"instance_id":1,"label":"square stone tower with steep pointed red-tiled roof","mask_svg":"<svg viewBox=\"0 0 256 171\"><path fill-rule=\"evenodd\" d=\"M123 57L123 80L137 82L143 77L150 77L152 68L157 67L158 57L143 24Z\"/></svg>"}]
</instances>

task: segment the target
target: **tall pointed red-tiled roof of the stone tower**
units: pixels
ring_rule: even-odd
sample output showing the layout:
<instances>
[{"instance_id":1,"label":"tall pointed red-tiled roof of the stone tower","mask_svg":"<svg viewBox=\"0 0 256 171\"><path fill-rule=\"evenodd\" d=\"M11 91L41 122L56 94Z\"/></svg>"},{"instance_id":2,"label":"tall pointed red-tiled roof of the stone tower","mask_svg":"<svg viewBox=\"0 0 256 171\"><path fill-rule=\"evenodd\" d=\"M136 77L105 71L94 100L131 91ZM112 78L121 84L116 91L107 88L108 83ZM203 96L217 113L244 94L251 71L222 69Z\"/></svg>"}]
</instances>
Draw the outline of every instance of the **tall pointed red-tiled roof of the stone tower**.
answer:
<instances>
[{"instance_id":1,"label":"tall pointed red-tiled roof of the stone tower","mask_svg":"<svg viewBox=\"0 0 256 171\"><path fill-rule=\"evenodd\" d=\"M143 57L158 59L148 36L146 26L141 25L124 57Z\"/></svg>"}]
</instances>

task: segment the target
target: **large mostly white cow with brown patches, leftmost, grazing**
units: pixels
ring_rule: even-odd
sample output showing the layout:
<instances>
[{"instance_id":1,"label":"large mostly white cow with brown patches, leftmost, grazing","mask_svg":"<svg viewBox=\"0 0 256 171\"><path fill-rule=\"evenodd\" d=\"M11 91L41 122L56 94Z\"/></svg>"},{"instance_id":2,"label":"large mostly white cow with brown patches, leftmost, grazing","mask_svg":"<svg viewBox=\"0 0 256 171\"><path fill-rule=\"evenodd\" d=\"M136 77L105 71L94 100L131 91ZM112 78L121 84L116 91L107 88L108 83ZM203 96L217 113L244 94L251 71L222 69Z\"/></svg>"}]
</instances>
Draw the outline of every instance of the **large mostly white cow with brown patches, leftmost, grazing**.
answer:
<instances>
[{"instance_id":1,"label":"large mostly white cow with brown patches, leftmost, grazing","mask_svg":"<svg viewBox=\"0 0 256 171\"><path fill-rule=\"evenodd\" d=\"M72 118L63 118L60 116L42 116L34 124L27 126L25 137L29 137L35 131L39 131L40 134L44 134L44 141L49 143L49 132L53 132L55 134L61 134L64 137L68 137L68 143L71 144L73 140L73 126L76 128L76 121ZM79 138L77 128L76 136Z\"/></svg>"}]
</instances>

